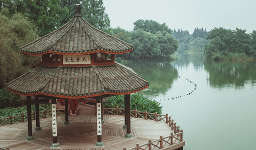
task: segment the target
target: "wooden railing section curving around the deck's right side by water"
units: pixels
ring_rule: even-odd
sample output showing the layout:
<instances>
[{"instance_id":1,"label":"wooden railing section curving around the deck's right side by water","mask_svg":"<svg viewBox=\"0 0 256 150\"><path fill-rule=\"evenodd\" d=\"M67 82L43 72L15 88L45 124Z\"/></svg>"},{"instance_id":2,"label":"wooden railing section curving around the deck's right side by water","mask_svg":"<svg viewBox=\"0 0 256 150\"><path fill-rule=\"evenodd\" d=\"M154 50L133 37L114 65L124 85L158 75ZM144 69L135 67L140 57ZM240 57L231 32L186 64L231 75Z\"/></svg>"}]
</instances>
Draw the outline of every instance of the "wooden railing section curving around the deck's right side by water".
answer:
<instances>
[{"instance_id":1,"label":"wooden railing section curving around the deck's right side by water","mask_svg":"<svg viewBox=\"0 0 256 150\"><path fill-rule=\"evenodd\" d=\"M124 109L122 108L104 108L103 114L122 114L124 115ZM171 117L168 117L168 114L158 114L157 112L155 113L150 113L147 112L147 110L145 111L137 111L137 109L135 110L131 110L131 116L134 116L136 118L144 118L144 119L152 119L155 121L164 121L165 123L168 123L168 125L171 127L171 129L174 131L174 133L171 133L171 135L163 137L160 136L160 139L151 141L149 140L148 143L145 144L137 144L136 147L134 148L130 148L129 150L145 150L145 149L155 149L156 147L159 149L162 149L166 144L172 145L174 144L176 141L183 141L183 130L180 129L180 126L177 126L176 122L174 122L173 119L171 119ZM123 150L126 150L126 148L123 148Z\"/></svg>"}]
</instances>

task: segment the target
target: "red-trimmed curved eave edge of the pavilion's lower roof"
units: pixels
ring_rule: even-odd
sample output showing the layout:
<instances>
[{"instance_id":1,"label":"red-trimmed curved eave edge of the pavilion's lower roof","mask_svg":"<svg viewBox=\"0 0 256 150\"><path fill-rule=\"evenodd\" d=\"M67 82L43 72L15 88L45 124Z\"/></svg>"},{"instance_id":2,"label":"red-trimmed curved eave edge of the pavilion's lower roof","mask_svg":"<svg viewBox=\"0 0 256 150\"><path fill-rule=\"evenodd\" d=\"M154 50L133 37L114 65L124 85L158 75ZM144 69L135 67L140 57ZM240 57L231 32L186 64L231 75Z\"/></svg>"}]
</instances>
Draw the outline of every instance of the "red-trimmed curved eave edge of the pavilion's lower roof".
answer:
<instances>
[{"instance_id":1,"label":"red-trimmed curved eave edge of the pavilion's lower roof","mask_svg":"<svg viewBox=\"0 0 256 150\"><path fill-rule=\"evenodd\" d=\"M102 93L90 93L87 95L78 95L78 96L74 96L74 95L62 95L62 94L54 94L54 93L45 93L45 92L33 92L33 93L23 93L23 92L17 92L15 90L12 90L10 88L7 87L7 90L14 92L16 94L19 95L23 95L23 96L35 96L35 95L47 95L47 96L53 96L53 97L59 97L59 98L70 98L70 99L76 99L76 98L90 98L90 97L94 97L94 96L100 96L100 95L105 95L105 94L113 94L113 95L123 95L123 94L131 94L131 93L135 93L138 91L141 91L145 88L148 88L149 85L146 85L144 87L141 87L137 90L134 91L116 91L116 92L111 92L111 91L106 91L106 92L102 92Z\"/></svg>"}]
</instances>

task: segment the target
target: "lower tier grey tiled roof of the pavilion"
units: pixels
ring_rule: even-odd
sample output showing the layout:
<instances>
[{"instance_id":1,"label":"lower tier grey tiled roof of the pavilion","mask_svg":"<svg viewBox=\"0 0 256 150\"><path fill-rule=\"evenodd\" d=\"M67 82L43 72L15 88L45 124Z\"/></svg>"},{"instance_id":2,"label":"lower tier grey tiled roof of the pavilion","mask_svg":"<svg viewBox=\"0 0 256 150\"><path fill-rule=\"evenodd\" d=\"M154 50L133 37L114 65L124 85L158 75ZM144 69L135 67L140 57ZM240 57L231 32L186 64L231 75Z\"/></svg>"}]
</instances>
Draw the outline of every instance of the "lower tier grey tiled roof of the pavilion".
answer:
<instances>
[{"instance_id":1,"label":"lower tier grey tiled roof of the pavilion","mask_svg":"<svg viewBox=\"0 0 256 150\"><path fill-rule=\"evenodd\" d=\"M40 65L7 84L21 95L80 98L103 94L129 94L147 88L149 82L120 64L108 66L49 67Z\"/></svg>"}]
</instances>

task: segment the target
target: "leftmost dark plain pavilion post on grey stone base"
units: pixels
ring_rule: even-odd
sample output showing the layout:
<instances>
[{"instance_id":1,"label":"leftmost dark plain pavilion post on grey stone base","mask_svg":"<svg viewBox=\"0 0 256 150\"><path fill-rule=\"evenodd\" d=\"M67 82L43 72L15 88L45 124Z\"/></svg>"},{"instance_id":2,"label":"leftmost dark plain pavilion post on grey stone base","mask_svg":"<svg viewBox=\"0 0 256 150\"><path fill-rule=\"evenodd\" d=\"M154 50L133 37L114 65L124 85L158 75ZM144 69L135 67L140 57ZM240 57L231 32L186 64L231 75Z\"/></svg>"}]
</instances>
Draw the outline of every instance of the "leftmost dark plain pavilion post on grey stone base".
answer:
<instances>
[{"instance_id":1,"label":"leftmost dark plain pavilion post on grey stone base","mask_svg":"<svg viewBox=\"0 0 256 150\"><path fill-rule=\"evenodd\" d=\"M27 116L28 116L28 136L26 140L35 140L35 137L32 135L31 96L27 96Z\"/></svg>"}]
</instances>

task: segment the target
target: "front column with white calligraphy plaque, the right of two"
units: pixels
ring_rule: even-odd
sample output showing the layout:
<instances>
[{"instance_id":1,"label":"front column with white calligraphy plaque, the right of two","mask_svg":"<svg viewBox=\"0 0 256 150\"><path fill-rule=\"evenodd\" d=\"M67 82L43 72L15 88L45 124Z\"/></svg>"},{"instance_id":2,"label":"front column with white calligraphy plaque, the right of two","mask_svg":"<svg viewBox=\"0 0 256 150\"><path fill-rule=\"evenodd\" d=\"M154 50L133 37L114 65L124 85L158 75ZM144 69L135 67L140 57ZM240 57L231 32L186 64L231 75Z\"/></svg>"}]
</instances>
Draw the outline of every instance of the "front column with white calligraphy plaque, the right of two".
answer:
<instances>
[{"instance_id":1,"label":"front column with white calligraphy plaque, the right of two","mask_svg":"<svg viewBox=\"0 0 256 150\"><path fill-rule=\"evenodd\" d=\"M102 133L102 123L101 123L101 96L96 97L96 115L97 115L97 141L95 147L104 146L103 141L101 141L101 133Z\"/></svg>"}]
</instances>

